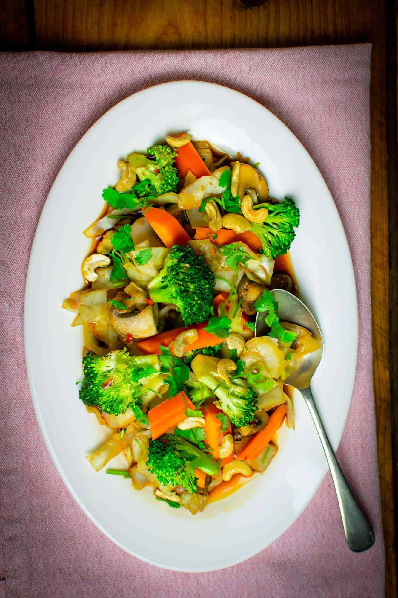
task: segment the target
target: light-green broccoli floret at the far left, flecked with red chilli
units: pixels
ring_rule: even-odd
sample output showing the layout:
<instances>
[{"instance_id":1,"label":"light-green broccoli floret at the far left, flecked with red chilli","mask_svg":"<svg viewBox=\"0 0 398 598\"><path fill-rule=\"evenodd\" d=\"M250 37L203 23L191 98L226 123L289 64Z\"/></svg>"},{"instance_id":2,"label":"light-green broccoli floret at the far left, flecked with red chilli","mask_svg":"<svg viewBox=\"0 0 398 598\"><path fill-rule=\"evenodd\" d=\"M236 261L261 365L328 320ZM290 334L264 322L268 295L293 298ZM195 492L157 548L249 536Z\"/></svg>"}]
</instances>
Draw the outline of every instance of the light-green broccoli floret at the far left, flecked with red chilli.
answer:
<instances>
[{"instance_id":1,"label":"light-green broccoli floret at the far left, flecked with red chilli","mask_svg":"<svg viewBox=\"0 0 398 598\"><path fill-rule=\"evenodd\" d=\"M158 370L153 358L153 355L132 357L125 347L105 356L88 352L83 358L81 400L114 415L131 407L137 419L142 420L145 416L140 395L148 390L142 382Z\"/></svg>"}]
</instances>

